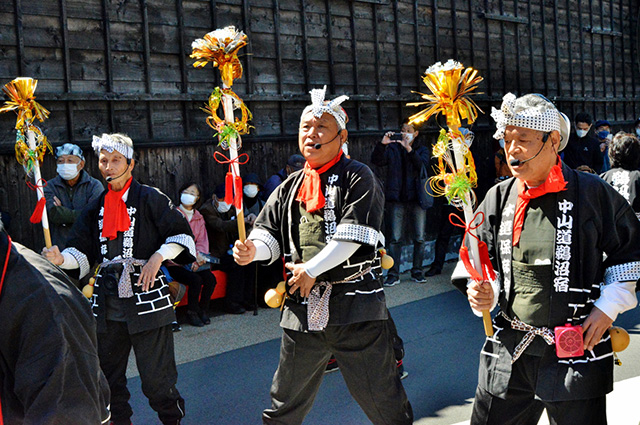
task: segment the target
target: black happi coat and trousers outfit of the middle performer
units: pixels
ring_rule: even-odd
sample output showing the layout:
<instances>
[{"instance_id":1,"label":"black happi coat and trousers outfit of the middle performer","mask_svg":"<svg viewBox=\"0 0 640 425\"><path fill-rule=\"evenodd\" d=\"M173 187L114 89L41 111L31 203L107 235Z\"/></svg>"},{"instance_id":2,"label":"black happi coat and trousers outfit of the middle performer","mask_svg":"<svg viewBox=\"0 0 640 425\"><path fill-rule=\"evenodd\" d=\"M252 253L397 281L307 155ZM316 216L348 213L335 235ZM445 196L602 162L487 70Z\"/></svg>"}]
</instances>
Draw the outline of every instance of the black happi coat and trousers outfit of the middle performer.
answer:
<instances>
[{"instance_id":1,"label":"black happi coat and trousers outfit of the middle performer","mask_svg":"<svg viewBox=\"0 0 640 425\"><path fill-rule=\"evenodd\" d=\"M366 165L341 157L319 175L324 206L318 207L321 200L313 205L296 200L311 199L300 193L304 178L304 170L298 171L278 186L249 239L268 247L270 262L281 255L286 262L307 262L330 241L360 247L317 276L308 299L297 293L285 299L280 364L271 387L272 408L263 412L263 422L301 423L334 354L351 394L373 423L410 424L413 413L396 372L376 251L384 204L380 184ZM326 296L323 307L319 299ZM316 303L319 314L310 322L307 310Z\"/></svg>"}]
</instances>

